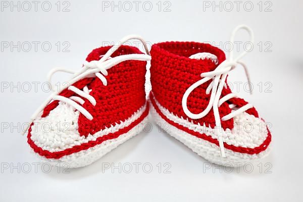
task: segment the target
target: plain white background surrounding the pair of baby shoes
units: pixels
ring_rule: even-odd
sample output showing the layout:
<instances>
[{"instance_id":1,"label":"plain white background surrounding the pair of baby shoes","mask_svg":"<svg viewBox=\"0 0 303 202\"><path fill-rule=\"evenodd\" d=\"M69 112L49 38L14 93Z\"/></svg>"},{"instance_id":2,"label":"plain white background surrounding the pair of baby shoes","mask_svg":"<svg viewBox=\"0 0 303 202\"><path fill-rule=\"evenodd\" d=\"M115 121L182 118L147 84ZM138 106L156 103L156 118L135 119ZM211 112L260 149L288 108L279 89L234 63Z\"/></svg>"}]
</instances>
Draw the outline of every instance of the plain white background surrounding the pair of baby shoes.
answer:
<instances>
[{"instance_id":1,"label":"plain white background surrounding the pair of baby shoes","mask_svg":"<svg viewBox=\"0 0 303 202\"><path fill-rule=\"evenodd\" d=\"M4 87L7 82L10 85L1 89L0 99L0 201L299 201L302 198L301 1L263 1L262 11L259 0L245 6L245 1L241 2L239 11L233 1L232 11L228 11L231 4L221 2L220 11L219 7L213 8L212 1L210 8L206 8L207 3L203 1L162 1L161 11L158 1L145 3L145 7L143 1L137 11L132 1L131 11L126 11L130 7L123 2L120 8L112 8L111 1L70 1L69 12L62 12L63 7L68 6L66 3L63 5L63 1L58 12L56 2L51 1L49 12L41 9L42 1L37 11L33 3L31 10L25 11L28 5L23 4L22 8L22 2L19 3L20 12L18 8L11 11L11 3L8 2L10 7L2 7L0 12L2 44L40 42L37 52L33 43L29 52L26 52L28 46L21 45L20 52L17 48L11 50L11 47L0 52L1 85ZM3 1L1 3L4 4ZM14 4L17 3L14 1ZM103 6L108 4L109 8ZM119 5L119 2L115 4ZM153 8L148 12L150 4ZM251 4L254 9L248 12ZM167 6L170 11L164 12ZM272 11L265 12L269 6ZM48 8L44 4L45 9ZM27 122L47 97L49 93L41 89L41 83L46 81L46 74L53 67L79 69L91 49L117 41L127 34L139 34L149 44L179 40L212 41L220 45L220 41L222 44L228 41L232 29L242 23L255 32L254 49L243 59L249 68L254 93L249 95L243 90L243 85L237 93L251 102L260 115L272 124L273 135L270 156L262 160L262 164L254 163L251 173L248 173L250 165L246 170L240 168L237 172L234 169L231 173L227 173L228 169L215 169L212 165L206 170L210 166L206 160L159 131L154 124L151 132L140 133L90 166L68 169L69 173L62 170L58 173L54 167L46 173L48 167L43 169L40 164L35 173L33 163L39 161L30 153L26 137L21 136L18 128L13 126ZM245 41L245 36L244 32L240 32L237 39ZM52 44L49 52L41 48L41 43L45 41ZM61 44L59 52L56 46L58 41ZM63 52L64 41L70 44L68 53ZM257 45L259 42L263 44L262 48ZM271 47L266 50L268 44ZM60 75L57 78L64 80L68 77ZM229 81L246 82L243 70L238 68L231 72ZM18 82L20 87L11 89ZM26 89L22 89L22 84L26 82L31 83L29 92L25 92L27 87L24 85ZM40 82L36 92L32 82ZM262 90L258 86L260 82ZM265 85L265 82L269 84ZM269 85L271 92L265 90ZM4 124L9 124L9 128ZM118 169L104 168L108 164L119 167L119 163L125 170L131 164L133 170L119 173ZM138 173L134 163L141 163ZM142 168L144 163L153 166L150 173L146 173L148 166L145 171ZM160 173L159 163L162 168ZM165 163L171 166L170 173L164 172L167 168ZM25 173L28 164L31 170ZM9 168L4 169L7 165ZM17 168L12 169L13 166L19 168L20 173ZM266 172L266 169L269 170Z\"/></svg>"}]
</instances>

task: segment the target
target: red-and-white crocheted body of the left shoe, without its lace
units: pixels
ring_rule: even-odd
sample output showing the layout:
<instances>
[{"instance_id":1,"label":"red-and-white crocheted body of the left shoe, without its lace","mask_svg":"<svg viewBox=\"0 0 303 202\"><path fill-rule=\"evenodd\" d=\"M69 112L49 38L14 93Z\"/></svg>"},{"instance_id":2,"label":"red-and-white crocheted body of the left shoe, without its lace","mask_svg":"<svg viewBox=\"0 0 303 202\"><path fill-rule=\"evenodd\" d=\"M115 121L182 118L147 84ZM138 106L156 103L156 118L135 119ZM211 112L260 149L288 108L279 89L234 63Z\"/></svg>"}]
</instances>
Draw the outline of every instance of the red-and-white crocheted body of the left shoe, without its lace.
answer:
<instances>
[{"instance_id":1,"label":"red-and-white crocheted body of the left shoe, without its lace","mask_svg":"<svg viewBox=\"0 0 303 202\"><path fill-rule=\"evenodd\" d=\"M87 62L98 61L112 46L94 49ZM121 45L111 57L142 54L138 48ZM27 142L43 161L70 163L71 167L88 165L141 131L138 127L147 121L148 104L145 99L146 61L126 60L107 70L106 86L97 77L83 78L72 86L91 89L96 100L93 106L85 97L65 89L59 95L79 96L82 105L93 117L83 114L67 104L53 100L31 124ZM51 132L43 132L39 124L49 123ZM57 131L56 124L69 123L69 131ZM58 160L58 161L57 161Z\"/></svg>"}]
</instances>

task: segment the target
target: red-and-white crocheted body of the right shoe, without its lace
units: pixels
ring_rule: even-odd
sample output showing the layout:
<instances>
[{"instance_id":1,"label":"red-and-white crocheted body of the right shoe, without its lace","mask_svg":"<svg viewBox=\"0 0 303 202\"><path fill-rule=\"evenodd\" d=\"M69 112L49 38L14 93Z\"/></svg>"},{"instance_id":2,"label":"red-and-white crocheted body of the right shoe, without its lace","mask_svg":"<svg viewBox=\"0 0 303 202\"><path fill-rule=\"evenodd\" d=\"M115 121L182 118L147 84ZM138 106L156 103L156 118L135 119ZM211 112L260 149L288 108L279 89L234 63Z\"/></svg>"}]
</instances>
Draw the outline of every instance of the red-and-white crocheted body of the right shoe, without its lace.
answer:
<instances>
[{"instance_id":1,"label":"red-and-white crocheted body of the right shoe, without its lace","mask_svg":"<svg viewBox=\"0 0 303 202\"><path fill-rule=\"evenodd\" d=\"M189 57L197 53L210 53L217 57L218 64L209 58L205 59L190 59ZM161 42L154 44L151 47L151 68L150 81L153 87L150 92L151 114L154 115L156 123L158 121L169 123L172 127L168 129L168 133L184 144L200 156L205 157L214 163L242 162L242 159L257 159L257 155L263 156L264 151L271 142L270 131L265 127L262 128L263 133L254 130L250 133L245 131L236 131L237 123L235 118L222 122L222 128L227 132L227 136L223 137L224 147L234 153L241 153L245 156L228 157L223 159L219 154L219 142L216 134L212 129L215 128L214 113L211 110L205 117L200 119L191 119L188 117L182 108L182 97L185 91L196 81L200 80L200 74L203 72L213 71L219 64L225 60L225 54L219 48L210 44L197 42ZM206 93L207 87L213 80L210 80L196 87L187 98L187 106L189 111L198 114L209 104L210 94ZM227 84L227 80L225 81ZM222 96L231 93L228 85L223 88ZM220 117L231 113L229 105L234 104L238 108L245 106L247 102L239 97L233 97L219 107ZM258 128L258 123L264 123L259 118L255 108L250 108L243 113L243 116L238 116L237 119L245 118L242 124L251 122L252 125ZM249 119L249 120L246 120ZM243 127L243 125L242 125ZM165 128L164 128L165 129ZM175 132L174 132L175 131ZM183 135L181 133L185 132ZM175 134L178 133L178 134ZM197 139L192 140L190 136ZM186 136L186 137L185 137ZM198 143L200 140L211 143L200 148L203 143ZM198 145L200 144L200 146ZM210 151L207 151L209 149ZM213 154L211 150L215 150ZM233 155L232 154L232 155ZM229 161L229 160L230 161Z\"/></svg>"}]
</instances>

